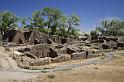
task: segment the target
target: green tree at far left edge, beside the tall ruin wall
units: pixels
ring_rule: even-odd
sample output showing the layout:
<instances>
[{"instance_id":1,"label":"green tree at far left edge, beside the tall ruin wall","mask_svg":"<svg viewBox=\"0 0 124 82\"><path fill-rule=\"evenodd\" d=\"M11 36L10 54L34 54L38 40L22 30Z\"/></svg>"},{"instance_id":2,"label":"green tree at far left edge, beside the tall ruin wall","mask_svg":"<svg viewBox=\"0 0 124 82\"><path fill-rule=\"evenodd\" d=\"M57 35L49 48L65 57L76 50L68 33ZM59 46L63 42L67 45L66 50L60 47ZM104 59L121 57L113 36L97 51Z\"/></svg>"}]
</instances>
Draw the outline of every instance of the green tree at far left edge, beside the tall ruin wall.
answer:
<instances>
[{"instance_id":1,"label":"green tree at far left edge, beside the tall ruin wall","mask_svg":"<svg viewBox=\"0 0 124 82\"><path fill-rule=\"evenodd\" d=\"M0 12L0 31L2 38L4 38L8 30L17 27L17 22L18 18L14 13L6 10Z\"/></svg>"}]
</instances>

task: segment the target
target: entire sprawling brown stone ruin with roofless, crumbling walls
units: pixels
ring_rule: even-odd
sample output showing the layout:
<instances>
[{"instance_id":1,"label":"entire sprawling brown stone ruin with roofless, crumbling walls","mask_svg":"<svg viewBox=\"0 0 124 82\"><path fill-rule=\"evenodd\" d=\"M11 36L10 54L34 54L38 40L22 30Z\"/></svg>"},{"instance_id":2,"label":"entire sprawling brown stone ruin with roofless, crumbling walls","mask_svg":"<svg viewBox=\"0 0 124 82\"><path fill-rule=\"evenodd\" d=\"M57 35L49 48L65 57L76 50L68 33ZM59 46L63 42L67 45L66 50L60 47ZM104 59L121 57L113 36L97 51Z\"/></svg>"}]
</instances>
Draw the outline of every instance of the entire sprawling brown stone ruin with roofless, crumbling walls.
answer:
<instances>
[{"instance_id":1,"label":"entire sprawling brown stone ruin with roofless, crumbling walls","mask_svg":"<svg viewBox=\"0 0 124 82\"><path fill-rule=\"evenodd\" d=\"M124 47L124 42L117 37L85 36L75 40L58 35L47 35L37 30L11 30L6 38L8 46L16 48L12 58L18 66L29 68L50 63L97 57L104 49ZM22 45L23 44L23 45ZM15 46L14 47L18 47Z\"/></svg>"}]
</instances>

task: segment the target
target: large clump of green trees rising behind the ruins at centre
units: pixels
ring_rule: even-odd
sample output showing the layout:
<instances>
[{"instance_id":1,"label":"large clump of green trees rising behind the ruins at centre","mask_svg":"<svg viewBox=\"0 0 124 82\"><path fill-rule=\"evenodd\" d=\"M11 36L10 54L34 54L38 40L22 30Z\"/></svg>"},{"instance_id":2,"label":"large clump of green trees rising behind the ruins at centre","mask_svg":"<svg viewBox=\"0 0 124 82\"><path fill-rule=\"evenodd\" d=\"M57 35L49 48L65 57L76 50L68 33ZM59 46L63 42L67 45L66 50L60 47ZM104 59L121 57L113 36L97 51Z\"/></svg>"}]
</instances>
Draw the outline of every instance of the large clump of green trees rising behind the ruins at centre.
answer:
<instances>
[{"instance_id":1,"label":"large clump of green trees rising behind the ruins at centre","mask_svg":"<svg viewBox=\"0 0 124 82\"><path fill-rule=\"evenodd\" d=\"M38 27L39 31L47 34L68 37L78 34L79 22L80 17L77 15L68 17L57 8L44 8L33 12L30 27Z\"/></svg>"}]
</instances>

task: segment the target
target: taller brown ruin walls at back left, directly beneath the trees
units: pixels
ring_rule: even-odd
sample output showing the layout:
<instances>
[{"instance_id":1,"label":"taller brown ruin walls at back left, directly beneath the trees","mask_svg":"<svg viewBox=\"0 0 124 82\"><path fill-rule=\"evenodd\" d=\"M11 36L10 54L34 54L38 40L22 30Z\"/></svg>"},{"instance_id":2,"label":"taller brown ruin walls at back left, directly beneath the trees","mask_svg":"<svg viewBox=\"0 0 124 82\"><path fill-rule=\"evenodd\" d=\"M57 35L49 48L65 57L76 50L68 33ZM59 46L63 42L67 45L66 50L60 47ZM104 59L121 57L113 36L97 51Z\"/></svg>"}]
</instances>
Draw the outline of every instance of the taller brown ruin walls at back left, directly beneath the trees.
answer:
<instances>
[{"instance_id":1,"label":"taller brown ruin walls at back left, directly beneath the trees","mask_svg":"<svg viewBox=\"0 0 124 82\"><path fill-rule=\"evenodd\" d=\"M69 43L73 42L72 38L63 38L58 35L47 35L39 32L38 30L10 30L4 38L6 42L12 42L16 44L36 45L44 43Z\"/></svg>"}]
</instances>

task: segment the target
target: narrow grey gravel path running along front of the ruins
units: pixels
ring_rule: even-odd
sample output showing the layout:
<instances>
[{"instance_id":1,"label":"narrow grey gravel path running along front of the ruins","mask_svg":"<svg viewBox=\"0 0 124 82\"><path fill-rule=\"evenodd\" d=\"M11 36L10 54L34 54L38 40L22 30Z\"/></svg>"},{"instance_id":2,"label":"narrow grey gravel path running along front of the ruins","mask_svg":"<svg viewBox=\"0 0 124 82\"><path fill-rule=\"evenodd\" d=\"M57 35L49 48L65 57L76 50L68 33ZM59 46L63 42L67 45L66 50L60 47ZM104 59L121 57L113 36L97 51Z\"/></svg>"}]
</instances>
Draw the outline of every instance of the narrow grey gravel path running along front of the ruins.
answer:
<instances>
[{"instance_id":1,"label":"narrow grey gravel path running along front of the ruins","mask_svg":"<svg viewBox=\"0 0 124 82\"><path fill-rule=\"evenodd\" d=\"M44 71L54 72L54 71L69 70L69 69L73 69L73 68L77 68L77 67L81 67L81 66L86 66L86 65L91 65L91 64L103 64L103 63L111 61L113 59L113 57L114 57L114 52L110 52L110 53L105 54L103 60L101 60L101 59L88 60L88 61L85 61L85 62L81 62L80 64L62 65L62 66L59 66L59 67L46 69Z\"/></svg>"}]
</instances>

